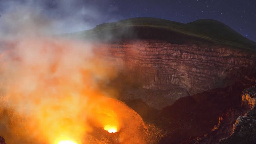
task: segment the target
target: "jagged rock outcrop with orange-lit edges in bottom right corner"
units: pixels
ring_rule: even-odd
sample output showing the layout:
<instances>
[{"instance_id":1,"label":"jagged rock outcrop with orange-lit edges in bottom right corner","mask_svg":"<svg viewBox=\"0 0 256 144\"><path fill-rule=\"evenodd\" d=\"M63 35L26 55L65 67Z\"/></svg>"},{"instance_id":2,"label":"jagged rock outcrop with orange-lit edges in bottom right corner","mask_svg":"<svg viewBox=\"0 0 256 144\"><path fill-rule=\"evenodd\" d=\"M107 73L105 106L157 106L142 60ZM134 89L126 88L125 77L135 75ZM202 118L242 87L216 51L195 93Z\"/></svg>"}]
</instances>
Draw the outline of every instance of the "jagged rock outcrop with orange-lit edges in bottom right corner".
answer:
<instances>
[{"instance_id":1,"label":"jagged rock outcrop with orange-lit edges in bottom right corner","mask_svg":"<svg viewBox=\"0 0 256 144\"><path fill-rule=\"evenodd\" d=\"M183 144L254 144L256 140L255 97L256 87L244 89L240 108L230 108L219 117L219 123L211 132L191 137Z\"/></svg>"}]
</instances>

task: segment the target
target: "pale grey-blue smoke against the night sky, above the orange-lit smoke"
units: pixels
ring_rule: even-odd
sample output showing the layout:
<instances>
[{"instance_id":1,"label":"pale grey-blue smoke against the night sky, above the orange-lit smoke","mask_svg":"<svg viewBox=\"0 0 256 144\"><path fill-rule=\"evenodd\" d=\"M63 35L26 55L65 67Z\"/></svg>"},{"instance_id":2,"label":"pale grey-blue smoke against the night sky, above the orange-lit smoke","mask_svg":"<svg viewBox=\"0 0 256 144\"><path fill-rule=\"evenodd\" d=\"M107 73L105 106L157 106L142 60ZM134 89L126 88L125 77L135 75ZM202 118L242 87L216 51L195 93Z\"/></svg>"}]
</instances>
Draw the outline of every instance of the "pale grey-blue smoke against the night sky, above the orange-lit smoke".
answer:
<instances>
[{"instance_id":1,"label":"pale grey-blue smoke against the night sky, above the orange-lit smoke","mask_svg":"<svg viewBox=\"0 0 256 144\"><path fill-rule=\"evenodd\" d=\"M95 5L98 3L99 6ZM34 15L37 24L47 23L48 30L53 34L70 33L94 28L103 22L113 22L122 19L116 16L117 7L111 6L102 10L107 1L95 2L84 0L8 0L0 2L0 28L5 24L20 25L19 21L26 21L28 15ZM8 14L15 13L15 21L10 21ZM13 17L12 17L13 18ZM50 23L45 21L50 19ZM29 27L28 27L29 28ZM31 27L33 28L33 27ZM38 27L37 27L38 28Z\"/></svg>"}]
</instances>

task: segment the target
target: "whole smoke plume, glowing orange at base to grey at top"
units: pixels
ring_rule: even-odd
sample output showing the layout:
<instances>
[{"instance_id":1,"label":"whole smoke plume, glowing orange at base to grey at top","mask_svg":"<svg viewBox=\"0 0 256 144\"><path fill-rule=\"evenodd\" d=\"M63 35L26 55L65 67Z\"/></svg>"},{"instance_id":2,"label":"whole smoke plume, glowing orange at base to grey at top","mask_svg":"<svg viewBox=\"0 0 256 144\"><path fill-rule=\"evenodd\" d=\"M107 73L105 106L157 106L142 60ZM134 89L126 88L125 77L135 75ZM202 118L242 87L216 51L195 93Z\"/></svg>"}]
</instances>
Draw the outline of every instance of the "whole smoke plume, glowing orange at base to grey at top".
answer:
<instances>
[{"instance_id":1,"label":"whole smoke plume, glowing orange at base to grey at top","mask_svg":"<svg viewBox=\"0 0 256 144\"><path fill-rule=\"evenodd\" d=\"M99 86L117 69L95 55L91 43L53 36L90 27L81 17L101 18L100 12L63 0L53 10L62 18L50 16L41 1L17 2L5 1L9 6L1 9L0 136L8 144L101 144L88 133L107 126L120 130L117 142L146 143L142 118Z\"/></svg>"}]
</instances>

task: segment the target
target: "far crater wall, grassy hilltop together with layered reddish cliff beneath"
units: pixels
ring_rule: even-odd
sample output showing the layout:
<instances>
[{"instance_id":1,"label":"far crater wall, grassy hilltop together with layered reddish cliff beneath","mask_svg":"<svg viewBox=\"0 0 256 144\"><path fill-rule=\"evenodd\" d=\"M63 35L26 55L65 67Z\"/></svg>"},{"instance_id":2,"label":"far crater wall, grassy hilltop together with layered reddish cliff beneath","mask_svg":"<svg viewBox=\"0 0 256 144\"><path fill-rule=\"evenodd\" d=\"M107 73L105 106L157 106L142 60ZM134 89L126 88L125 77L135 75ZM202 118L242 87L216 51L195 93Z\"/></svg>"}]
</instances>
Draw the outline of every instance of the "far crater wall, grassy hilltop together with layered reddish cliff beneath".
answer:
<instances>
[{"instance_id":1,"label":"far crater wall, grassy hilltop together with layered reddish cliff beneath","mask_svg":"<svg viewBox=\"0 0 256 144\"><path fill-rule=\"evenodd\" d=\"M255 42L215 20L134 18L63 36L92 42L100 57L118 67L112 84L121 87L119 99L140 98L157 109L255 79Z\"/></svg>"}]
</instances>

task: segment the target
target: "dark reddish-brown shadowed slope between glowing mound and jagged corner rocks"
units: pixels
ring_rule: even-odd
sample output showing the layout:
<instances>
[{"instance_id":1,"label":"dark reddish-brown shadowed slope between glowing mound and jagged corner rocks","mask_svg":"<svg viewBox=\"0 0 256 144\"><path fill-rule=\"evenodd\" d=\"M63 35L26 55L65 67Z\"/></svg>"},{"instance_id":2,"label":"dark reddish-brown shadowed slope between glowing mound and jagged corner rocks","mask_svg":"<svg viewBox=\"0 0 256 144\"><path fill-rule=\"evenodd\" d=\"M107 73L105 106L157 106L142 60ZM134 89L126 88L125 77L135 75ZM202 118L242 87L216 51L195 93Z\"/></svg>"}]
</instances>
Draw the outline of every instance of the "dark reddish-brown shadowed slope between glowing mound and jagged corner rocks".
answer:
<instances>
[{"instance_id":1,"label":"dark reddish-brown shadowed slope between glowing mound and jagged corner rocks","mask_svg":"<svg viewBox=\"0 0 256 144\"><path fill-rule=\"evenodd\" d=\"M158 121L169 133L159 144L216 144L230 136L233 123L246 111L241 110L243 89L241 83L236 83L180 98L165 107Z\"/></svg>"}]
</instances>

